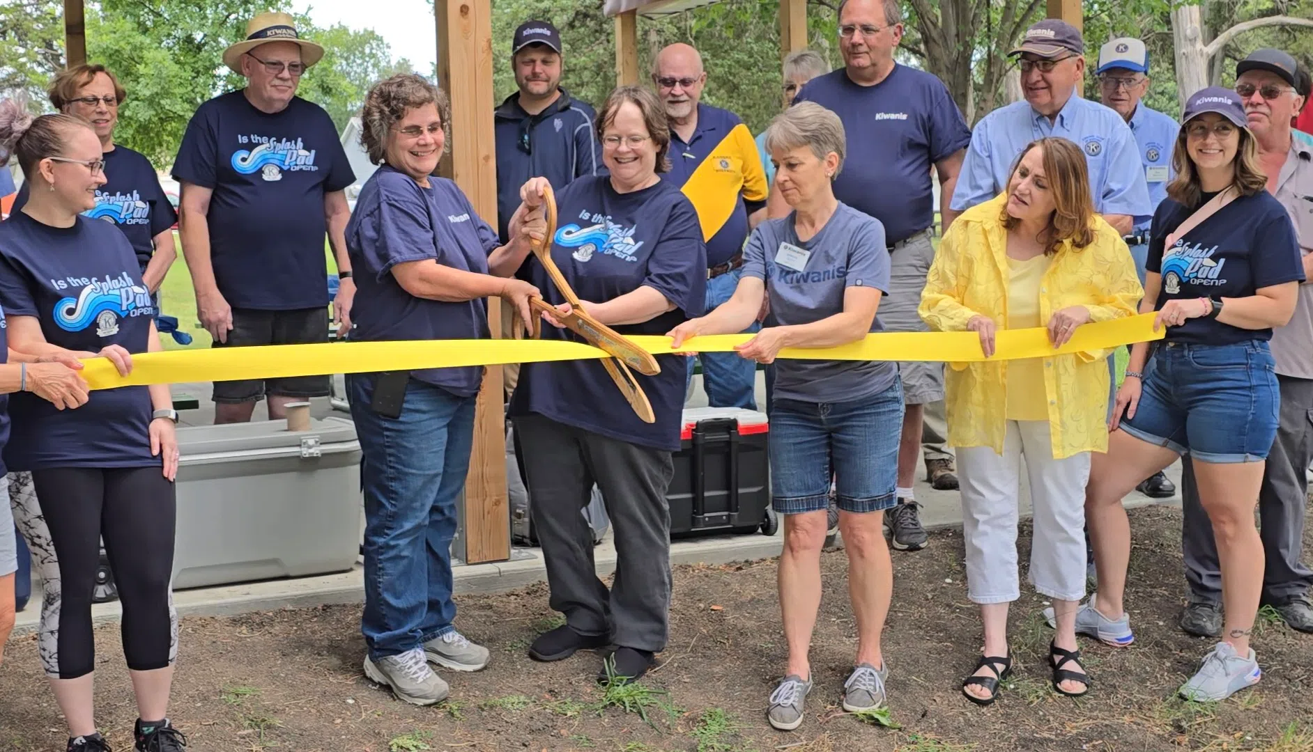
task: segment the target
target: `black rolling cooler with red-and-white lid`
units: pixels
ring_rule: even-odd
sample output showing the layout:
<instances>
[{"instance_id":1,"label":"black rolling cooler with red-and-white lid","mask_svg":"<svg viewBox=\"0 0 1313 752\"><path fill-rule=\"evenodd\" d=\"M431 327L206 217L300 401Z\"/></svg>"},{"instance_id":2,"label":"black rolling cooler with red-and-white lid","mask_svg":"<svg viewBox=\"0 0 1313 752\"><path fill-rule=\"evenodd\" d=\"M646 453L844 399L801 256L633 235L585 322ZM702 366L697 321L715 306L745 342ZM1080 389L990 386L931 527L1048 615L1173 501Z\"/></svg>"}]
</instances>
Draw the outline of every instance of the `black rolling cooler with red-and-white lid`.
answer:
<instances>
[{"instance_id":1,"label":"black rolling cooler with red-and-white lid","mask_svg":"<svg viewBox=\"0 0 1313 752\"><path fill-rule=\"evenodd\" d=\"M755 533L773 535L764 412L700 407L684 411L670 503L671 535Z\"/></svg>"}]
</instances>

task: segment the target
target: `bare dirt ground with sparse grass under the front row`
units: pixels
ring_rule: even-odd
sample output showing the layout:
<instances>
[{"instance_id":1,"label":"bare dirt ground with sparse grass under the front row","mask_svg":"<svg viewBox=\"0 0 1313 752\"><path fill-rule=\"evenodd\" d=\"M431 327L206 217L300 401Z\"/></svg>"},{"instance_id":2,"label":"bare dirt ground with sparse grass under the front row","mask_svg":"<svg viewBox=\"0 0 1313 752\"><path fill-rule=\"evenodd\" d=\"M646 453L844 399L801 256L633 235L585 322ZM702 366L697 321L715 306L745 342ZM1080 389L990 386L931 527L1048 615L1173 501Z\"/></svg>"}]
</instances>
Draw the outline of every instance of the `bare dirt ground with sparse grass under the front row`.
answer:
<instances>
[{"instance_id":1,"label":"bare dirt ground with sparse grass under the front row","mask_svg":"<svg viewBox=\"0 0 1313 752\"><path fill-rule=\"evenodd\" d=\"M1171 508L1132 513L1136 533L1128 608L1137 642L1083 648L1092 692L1073 701L1049 689L1049 631L1032 595L1012 610L1018 672L989 709L958 693L979 647L966 601L958 533L894 554L895 595L885 651L894 727L843 714L855 625L846 558L826 553L826 593L813 648L815 689L804 724L776 732L764 710L784 667L775 562L680 567L670 647L637 688L601 690L595 654L540 664L524 648L559 623L545 585L457 598L457 625L488 646L479 673L444 676L452 700L419 709L394 701L361 675L358 606L282 610L183 622L172 718L198 751L297 752L597 749L617 752L897 751L1266 751L1313 752L1313 637L1260 618L1255 648L1263 681L1218 706L1174 697L1211 647L1180 633L1179 525ZM1028 530L1020 541L1028 549ZM1024 588L1023 588L1024 589ZM117 627L97 633L98 718L116 749L131 749L135 718ZM646 718L646 719L645 719ZM0 749L64 744L58 709L33 637L9 646L0 669Z\"/></svg>"}]
</instances>

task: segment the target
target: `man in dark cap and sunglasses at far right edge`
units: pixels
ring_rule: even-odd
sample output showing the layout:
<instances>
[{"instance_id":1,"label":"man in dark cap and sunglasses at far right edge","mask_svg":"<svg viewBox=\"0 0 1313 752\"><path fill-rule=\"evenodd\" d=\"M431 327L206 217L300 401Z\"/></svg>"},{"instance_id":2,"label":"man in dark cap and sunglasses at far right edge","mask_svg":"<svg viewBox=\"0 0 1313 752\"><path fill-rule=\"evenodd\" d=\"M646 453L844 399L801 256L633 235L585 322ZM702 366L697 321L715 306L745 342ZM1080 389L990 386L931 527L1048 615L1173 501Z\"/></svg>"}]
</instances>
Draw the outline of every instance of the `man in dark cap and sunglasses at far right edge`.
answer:
<instances>
[{"instance_id":1,"label":"man in dark cap and sunglasses at far right edge","mask_svg":"<svg viewBox=\"0 0 1313 752\"><path fill-rule=\"evenodd\" d=\"M1236 93L1245 104L1249 129L1258 142L1258 159L1267 173L1267 190L1295 223L1304 276L1313 280L1313 146L1292 138L1291 118L1304 106L1296 89L1299 66L1280 50L1255 50L1236 66ZM1304 554L1304 504L1308 469L1313 463L1313 285L1299 287L1295 314L1272 329L1272 358L1280 385L1276 441L1267 454L1258 493L1259 534L1266 567L1260 604L1272 606L1292 629L1313 633L1309 585L1313 571ZM1180 629L1199 637L1220 637L1221 571L1213 528L1199 501L1190 459L1182 474L1186 581L1190 602Z\"/></svg>"}]
</instances>

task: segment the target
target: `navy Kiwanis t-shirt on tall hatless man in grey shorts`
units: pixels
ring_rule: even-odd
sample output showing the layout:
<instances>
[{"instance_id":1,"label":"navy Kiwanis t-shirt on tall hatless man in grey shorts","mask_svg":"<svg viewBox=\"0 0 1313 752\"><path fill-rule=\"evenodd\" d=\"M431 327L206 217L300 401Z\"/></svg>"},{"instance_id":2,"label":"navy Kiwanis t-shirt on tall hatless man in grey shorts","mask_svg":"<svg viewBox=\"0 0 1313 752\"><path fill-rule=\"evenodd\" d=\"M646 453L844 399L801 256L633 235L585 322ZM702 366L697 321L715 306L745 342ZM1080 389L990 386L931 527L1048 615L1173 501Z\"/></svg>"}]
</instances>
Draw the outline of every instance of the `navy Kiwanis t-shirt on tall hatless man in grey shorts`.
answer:
<instances>
[{"instance_id":1,"label":"navy Kiwanis t-shirt on tall hatless man in grey shorts","mask_svg":"<svg viewBox=\"0 0 1313 752\"><path fill-rule=\"evenodd\" d=\"M793 101L817 102L843 121L848 155L834 196L878 219L890 245L935 222L930 168L972 140L944 81L895 63L885 80L863 87L839 68L807 81Z\"/></svg>"}]
</instances>

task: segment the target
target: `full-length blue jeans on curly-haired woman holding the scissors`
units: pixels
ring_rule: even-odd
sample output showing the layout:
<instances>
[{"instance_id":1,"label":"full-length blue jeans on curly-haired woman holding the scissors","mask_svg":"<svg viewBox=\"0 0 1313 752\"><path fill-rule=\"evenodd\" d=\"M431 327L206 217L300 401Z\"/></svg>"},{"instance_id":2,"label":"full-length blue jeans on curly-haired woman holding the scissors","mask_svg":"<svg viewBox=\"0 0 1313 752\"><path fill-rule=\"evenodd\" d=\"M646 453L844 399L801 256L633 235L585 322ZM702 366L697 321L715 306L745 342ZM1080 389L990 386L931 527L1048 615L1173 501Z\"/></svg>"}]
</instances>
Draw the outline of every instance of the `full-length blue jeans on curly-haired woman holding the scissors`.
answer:
<instances>
[{"instance_id":1,"label":"full-length blue jeans on curly-haired woman holding the scissors","mask_svg":"<svg viewBox=\"0 0 1313 752\"><path fill-rule=\"evenodd\" d=\"M411 379L400 417L370 407L374 374L347 375L364 454L365 613L378 660L454 630L452 538L474 444L475 398Z\"/></svg>"}]
</instances>

